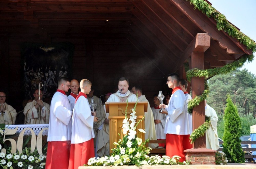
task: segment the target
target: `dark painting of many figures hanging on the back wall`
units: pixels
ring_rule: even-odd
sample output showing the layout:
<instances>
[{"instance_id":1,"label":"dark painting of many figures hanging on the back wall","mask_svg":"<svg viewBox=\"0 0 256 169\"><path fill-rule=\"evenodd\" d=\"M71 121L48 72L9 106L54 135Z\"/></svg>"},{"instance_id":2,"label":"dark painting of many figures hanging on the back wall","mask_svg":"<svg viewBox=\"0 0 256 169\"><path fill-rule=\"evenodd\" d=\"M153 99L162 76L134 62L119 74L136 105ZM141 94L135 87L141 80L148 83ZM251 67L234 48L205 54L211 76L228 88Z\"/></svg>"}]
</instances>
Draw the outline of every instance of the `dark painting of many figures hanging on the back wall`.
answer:
<instances>
[{"instance_id":1,"label":"dark painting of many figures hanging on the back wall","mask_svg":"<svg viewBox=\"0 0 256 169\"><path fill-rule=\"evenodd\" d=\"M26 43L22 49L25 98L33 99L34 90L42 82L43 98L51 99L58 88L59 78L71 75L73 44Z\"/></svg>"}]
</instances>

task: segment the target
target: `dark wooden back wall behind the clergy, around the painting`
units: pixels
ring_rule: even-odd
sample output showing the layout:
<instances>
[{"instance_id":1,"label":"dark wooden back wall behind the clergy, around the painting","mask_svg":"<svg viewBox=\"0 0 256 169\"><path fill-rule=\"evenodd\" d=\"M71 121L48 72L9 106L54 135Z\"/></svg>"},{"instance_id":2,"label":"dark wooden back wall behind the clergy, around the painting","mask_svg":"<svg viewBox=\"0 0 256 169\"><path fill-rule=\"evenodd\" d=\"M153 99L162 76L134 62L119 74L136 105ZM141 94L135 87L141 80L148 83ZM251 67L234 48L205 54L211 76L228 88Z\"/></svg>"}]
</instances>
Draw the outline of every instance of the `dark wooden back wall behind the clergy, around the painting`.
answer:
<instances>
[{"instance_id":1,"label":"dark wooden back wall behind the clergy, around the painting","mask_svg":"<svg viewBox=\"0 0 256 169\"><path fill-rule=\"evenodd\" d=\"M166 90L166 76L127 38L81 38L53 37L42 40L38 37L0 38L0 90L6 92L6 102L17 111L21 110L24 99L22 86L24 63L21 63L20 45L23 42L45 44L70 42L75 46L72 79L89 79L95 88L95 95L114 92L118 79L127 77L129 89L141 85L142 92L153 106L153 94Z\"/></svg>"}]
</instances>

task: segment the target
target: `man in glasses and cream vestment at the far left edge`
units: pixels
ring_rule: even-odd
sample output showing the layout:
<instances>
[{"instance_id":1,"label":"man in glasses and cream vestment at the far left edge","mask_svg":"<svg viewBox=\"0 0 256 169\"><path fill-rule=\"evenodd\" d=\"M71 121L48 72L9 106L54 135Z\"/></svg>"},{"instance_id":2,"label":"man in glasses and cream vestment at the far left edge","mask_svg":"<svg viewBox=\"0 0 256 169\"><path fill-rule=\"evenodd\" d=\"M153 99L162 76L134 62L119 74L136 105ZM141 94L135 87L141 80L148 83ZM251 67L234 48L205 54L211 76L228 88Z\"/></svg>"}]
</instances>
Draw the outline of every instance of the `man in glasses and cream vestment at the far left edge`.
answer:
<instances>
[{"instance_id":1,"label":"man in glasses and cream vestment at the far left edge","mask_svg":"<svg viewBox=\"0 0 256 169\"><path fill-rule=\"evenodd\" d=\"M14 125L17 112L12 106L6 104L5 99L5 93L0 92L0 124Z\"/></svg>"}]
</instances>

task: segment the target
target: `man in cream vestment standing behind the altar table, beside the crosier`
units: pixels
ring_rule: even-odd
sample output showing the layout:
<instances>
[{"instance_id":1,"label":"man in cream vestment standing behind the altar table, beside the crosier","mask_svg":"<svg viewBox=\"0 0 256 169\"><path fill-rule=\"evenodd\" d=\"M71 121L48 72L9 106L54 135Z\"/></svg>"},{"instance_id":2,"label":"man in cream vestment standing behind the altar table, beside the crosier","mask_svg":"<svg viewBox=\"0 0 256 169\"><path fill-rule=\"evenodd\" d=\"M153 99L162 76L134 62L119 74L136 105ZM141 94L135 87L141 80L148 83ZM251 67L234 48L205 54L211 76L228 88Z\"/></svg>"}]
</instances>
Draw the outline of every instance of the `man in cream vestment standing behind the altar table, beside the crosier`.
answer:
<instances>
[{"instance_id":1,"label":"man in cream vestment standing behind the altar table, beside the crosier","mask_svg":"<svg viewBox=\"0 0 256 169\"><path fill-rule=\"evenodd\" d=\"M40 95L39 90L35 90L33 96L34 100L29 102L24 108L24 124L49 124L50 105L42 101L43 93L41 90Z\"/></svg>"}]
</instances>

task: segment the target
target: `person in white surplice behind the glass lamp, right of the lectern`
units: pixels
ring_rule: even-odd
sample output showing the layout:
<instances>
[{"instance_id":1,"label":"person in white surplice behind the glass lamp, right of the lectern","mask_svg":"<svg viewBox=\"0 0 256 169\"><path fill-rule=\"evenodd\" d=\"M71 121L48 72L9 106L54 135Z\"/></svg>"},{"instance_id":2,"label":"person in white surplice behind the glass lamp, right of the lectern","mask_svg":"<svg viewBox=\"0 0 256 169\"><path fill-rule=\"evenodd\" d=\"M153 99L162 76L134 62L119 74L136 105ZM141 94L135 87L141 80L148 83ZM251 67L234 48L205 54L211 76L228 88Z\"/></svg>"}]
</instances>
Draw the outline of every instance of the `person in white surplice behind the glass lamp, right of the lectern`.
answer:
<instances>
[{"instance_id":1,"label":"person in white surplice behind the glass lamp, right of the lectern","mask_svg":"<svg viewBox=\"0 0 256 169\"><path fill-rule=\"evenodd\" d=\"M165 120L166 120L166 114L159 113L159 108L160 101L157 98L158 94L155 94L153 96L153 101L154 101L154 107L151 108L154 116L154 121L155 121L155 128L156 128L156 137L159 140L165 140L166 139L166 134L164 133L165 130ZM160 147L165 147L165 143L159 143Z\"/></svg>"}]
</instances>

